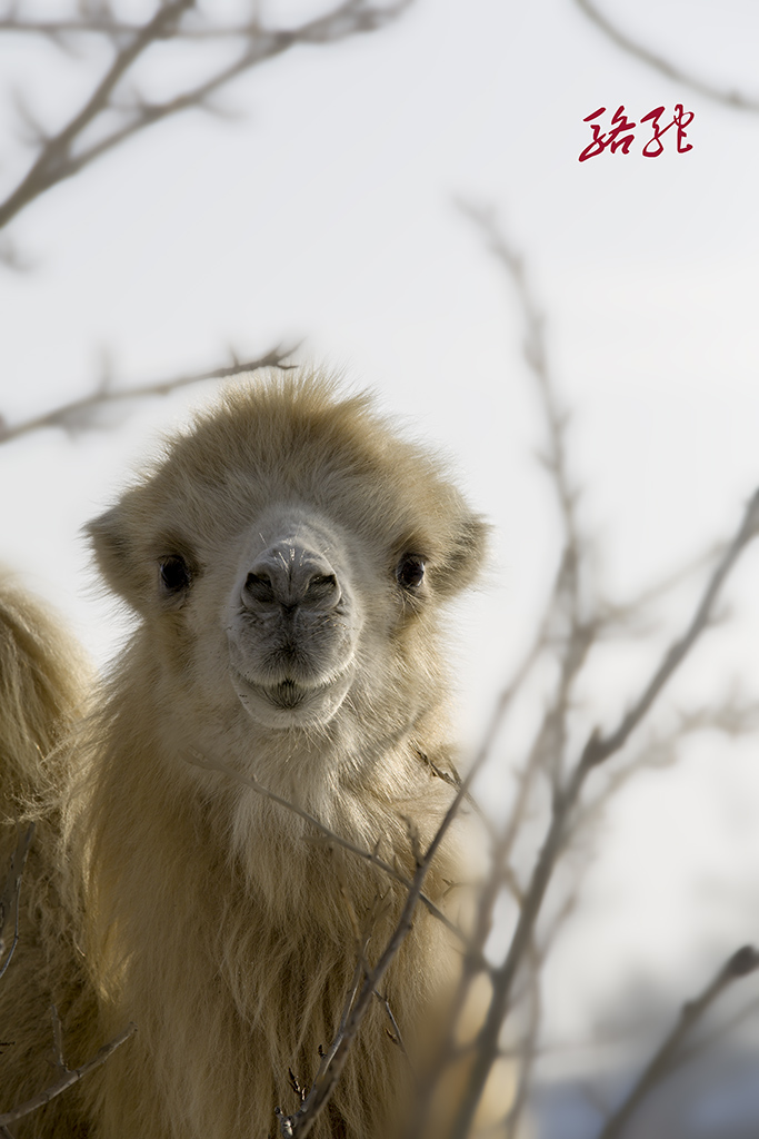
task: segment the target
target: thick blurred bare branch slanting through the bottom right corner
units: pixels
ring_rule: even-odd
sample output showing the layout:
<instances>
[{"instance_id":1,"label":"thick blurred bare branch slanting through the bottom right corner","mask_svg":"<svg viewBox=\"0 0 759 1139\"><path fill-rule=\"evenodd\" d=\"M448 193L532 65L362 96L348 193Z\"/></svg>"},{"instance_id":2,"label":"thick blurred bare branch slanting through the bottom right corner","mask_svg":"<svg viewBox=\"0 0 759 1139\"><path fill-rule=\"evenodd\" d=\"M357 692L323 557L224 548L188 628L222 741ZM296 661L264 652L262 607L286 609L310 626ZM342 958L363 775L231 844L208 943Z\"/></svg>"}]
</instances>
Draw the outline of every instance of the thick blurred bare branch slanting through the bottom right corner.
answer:
<instances>
[{"instance_id":1,"label":"thick blurred bare branch slanting through the bottom right corner","mask_svg":"<svg viewBox=\"0 0 759 1139\"><path fill-rule=\"evenodd\" d=\"M674 1029L651 1058L627 1098L607 1120L599 1139L617 1139L622 1133L646 1096L670 1073L677 1062L683 1042L720 993L733 981L745 977L758 968L759 952L752 945L744 945L728 958L703 992L683 1006Z\"/></svg>"}]
</instances>

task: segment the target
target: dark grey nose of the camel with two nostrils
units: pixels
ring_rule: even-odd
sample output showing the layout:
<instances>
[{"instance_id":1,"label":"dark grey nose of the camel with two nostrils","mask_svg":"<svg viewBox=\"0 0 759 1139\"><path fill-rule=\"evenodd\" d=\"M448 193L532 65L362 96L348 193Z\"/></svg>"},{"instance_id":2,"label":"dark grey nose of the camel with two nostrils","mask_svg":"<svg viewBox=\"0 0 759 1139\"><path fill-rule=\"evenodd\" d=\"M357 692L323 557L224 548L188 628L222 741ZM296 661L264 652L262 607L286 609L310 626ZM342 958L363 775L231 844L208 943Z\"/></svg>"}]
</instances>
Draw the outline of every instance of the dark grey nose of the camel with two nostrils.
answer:
<instances>
[{"instance_id":1,"label":"dark grey nose of the camel with two nostrils","mask_svg":"<svg viewBox=\"0 0 759 1139\"><path fill-rule=\"evenodd\" d=\"M241 590L247 609L281 606L292 611L328 612L340 600L337 574L328 559L306 546L280 541L250 566Z\"/></svg>"}]
</instances>

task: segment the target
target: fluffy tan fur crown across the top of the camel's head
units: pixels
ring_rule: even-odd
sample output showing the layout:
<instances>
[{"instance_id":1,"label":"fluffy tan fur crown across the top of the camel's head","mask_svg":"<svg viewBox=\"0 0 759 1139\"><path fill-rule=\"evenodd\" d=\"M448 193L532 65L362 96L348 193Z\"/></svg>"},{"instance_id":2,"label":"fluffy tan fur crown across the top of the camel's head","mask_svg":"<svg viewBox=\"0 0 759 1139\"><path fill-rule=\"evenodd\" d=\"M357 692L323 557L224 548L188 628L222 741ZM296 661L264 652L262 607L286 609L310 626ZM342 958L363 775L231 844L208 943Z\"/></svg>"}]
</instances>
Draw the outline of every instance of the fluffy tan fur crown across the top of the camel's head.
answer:
<instances>
[{"instance_id":1,"label":"fluffy tan fur crown across the top of the camel's head","mask_svg":"<svg viewBox=\"0 0 759 1139\"><path fill-rule=\"evenodd\" d=\"M203 560L272 505L329 516L368 548L429 559L440 595L472 580L485 525L444 464L316 371L269 371L228 387L170 440L121 502L90 526L101 568L172 546ZM468 572L464 573L463 571Z\"/></svg>"}]
</instances>

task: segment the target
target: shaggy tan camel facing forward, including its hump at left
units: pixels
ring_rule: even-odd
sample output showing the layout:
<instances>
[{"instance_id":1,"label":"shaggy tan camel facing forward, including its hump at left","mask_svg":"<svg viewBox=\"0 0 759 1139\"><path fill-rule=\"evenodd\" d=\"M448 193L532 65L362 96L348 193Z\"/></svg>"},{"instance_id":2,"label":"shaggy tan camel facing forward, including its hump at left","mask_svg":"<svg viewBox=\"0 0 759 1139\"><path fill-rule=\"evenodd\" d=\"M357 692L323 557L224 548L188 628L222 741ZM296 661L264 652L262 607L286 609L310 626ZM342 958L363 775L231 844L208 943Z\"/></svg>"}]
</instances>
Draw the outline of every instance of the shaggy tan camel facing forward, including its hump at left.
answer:
<instances>
[{"instance_id":1,"label":"shaggy tan camel facing forward, including its hump at left","mask_svg":"<svg viewBox=\"0 0 759 1139\"><path fill-rule=\"evenodd\" d=\"M0 609L8 850L36 816L0 1112L55 1082L55 1002L72 1068L137 1033L18 1139L265 1139L406 898L307 817L413 876L453 797L432 767L449 762L442 613L485 526L365 395L274 374L199 415L89 533L137 624L88 707L47 617L8 589ZM438 907L456 844L424 882ZM412 1055L451 940L418 906L383 978ZM395 1134L409 1059L389 1025L376 1000L312 1136Z\"/></svg>"}]
</instances>

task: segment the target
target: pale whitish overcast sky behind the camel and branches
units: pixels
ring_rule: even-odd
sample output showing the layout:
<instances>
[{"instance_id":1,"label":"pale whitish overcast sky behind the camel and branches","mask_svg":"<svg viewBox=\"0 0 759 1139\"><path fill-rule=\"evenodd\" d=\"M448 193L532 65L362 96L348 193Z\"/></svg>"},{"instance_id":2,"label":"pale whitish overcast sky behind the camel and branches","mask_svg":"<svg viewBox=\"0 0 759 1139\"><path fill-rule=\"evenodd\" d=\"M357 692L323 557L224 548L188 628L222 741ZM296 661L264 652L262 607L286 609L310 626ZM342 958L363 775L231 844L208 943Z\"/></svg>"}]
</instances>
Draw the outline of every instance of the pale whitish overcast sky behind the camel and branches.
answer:
<instances>
[{"instance_id":1,"label":"pale whitish overcast sky behind the camel and branches","mask_svg":"<svg viewBox=\"0 0 759 1139\"><path fill-rule=\"evenodd\" d=\"M599 3L682 69L759 99L749 0ZM118 7L141 17L150 6ZM315 10L265 6L282 21ZM25 161L10 92L56 123L98 66L20 39L0 47L0 190ZM160 95L181 66L148 67L146 90ZM572 0L418 0L394 26L297 49L220 101L239 117L158 126L13 224L33 269L0 270L0 410L14 423L88 392L105 354L116 382L149 382L225 362L230 345L255 354L298 338L299 359L373 386L452 457L495 527L489 575L455 640L471 748L529 641L559 531L534 459L543 425L514 293L454 199L494 207L526 257L572 410L581 518L604 592L624 599L728 536L759 484L759 114L655 73ZM596 108L608 129L621 104L636 122L663 105L668 122L678 103L694 113L690 153L677 153L673 130L661 157L643 157L650 132L638 126L629 154L578 162ZM0 448L2 559L57 603L99 663L117 648L113 605L93 587L79 530L156 434L209 394ZM717 698L732 678L759 687L758 567L749 551L728 590L734 622L688 664L679 706ZM698 583L659 614L653 645L638 638L592 662L578 739L613 726ZM530 716L504 741L489 798L511 795ZM638 981L666 988L674 1010L759 940L758 761L756 740L711 735L628 788L548 976L550 1034L586 1039Z\"/></svg>"}]
</instances>

